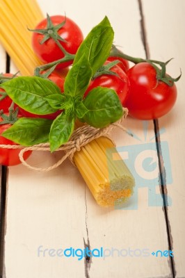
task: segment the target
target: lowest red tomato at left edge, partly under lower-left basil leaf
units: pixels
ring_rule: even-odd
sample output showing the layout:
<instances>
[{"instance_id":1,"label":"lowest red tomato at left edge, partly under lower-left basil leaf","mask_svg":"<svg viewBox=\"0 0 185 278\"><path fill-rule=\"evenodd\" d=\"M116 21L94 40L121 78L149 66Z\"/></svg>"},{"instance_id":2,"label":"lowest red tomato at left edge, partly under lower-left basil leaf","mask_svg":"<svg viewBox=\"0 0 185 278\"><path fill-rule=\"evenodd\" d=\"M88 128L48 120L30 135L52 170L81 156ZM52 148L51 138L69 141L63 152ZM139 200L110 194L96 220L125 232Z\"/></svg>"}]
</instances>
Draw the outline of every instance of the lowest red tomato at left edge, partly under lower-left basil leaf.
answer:
<instances>
[{"instance_id":1,"label":"lowest red tomato at left edge, partly under lower-left basil leaf","mask_svg":"<svg viewBox=\"0 0 185 278\"><path fill-rule=\"evenodd\" d=\"M2 122L2 118L0 117L0 122ZM1 133L3 131L6 131L6 129L9 129L11 124L1 124L0 125L0 145L18 145L15 144L15 142L4 138L1 136ZM21 163L19 159L19 152L21 149L3 149L0 147L0 165L6 165L6 166L13 166L18 165ZM28 151L24 153L24 159L26 160L31 155L32 151Z\"/></svg>"}]
</instances>

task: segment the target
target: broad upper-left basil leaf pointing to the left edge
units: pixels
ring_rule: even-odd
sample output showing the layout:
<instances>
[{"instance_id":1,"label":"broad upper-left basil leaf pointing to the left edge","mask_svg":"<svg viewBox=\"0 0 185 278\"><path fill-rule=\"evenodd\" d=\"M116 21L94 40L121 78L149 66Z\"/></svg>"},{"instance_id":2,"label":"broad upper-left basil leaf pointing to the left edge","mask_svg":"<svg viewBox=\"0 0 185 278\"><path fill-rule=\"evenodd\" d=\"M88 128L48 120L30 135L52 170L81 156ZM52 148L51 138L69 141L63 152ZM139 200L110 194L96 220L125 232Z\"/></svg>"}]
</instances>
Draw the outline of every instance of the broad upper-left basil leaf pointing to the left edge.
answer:
<instances>
[{"instance_id":1,"label":"broad upper-left basil leaf pointing to the left edge","mask_svg":"<svg viewBox=\"0 0 185 278\"><path fill-rule=\"evenodd\" d=\"M49 80L36 76L20 76L1 85L15 104L38 115L47 115L57 111L49 105L45 97L61 95L58 86Z\"/></svg>"}]
</instances>

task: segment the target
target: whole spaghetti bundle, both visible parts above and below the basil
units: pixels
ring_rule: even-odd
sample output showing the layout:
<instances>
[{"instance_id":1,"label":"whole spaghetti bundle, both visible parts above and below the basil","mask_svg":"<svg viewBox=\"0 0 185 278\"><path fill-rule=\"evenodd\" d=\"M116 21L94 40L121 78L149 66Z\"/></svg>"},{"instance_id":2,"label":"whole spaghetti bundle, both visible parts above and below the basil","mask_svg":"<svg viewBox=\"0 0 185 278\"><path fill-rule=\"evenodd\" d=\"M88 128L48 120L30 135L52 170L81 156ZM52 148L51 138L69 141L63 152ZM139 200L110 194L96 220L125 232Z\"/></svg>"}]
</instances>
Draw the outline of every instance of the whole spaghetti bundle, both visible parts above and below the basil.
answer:
<instances>
[{"instance_id":1,"label":"whole spaghetti bundle, both visible parts above and below the basil","mask_svg":"<svg viewBox=\"0 0 185 278\"><path fill-rule=\"evenodd\" d=\"M31 48L31 32L27 27L35 28L42 20L40 8L36 0L0 0L0 3L0 41L21 74L32 75L41 63ZM117 153L116 161L113 153ZM134 178L108 138L97 138L81 147L74 154L74 163L100 206L122 204L133 193Z\"/></svg>"}]
</instances>

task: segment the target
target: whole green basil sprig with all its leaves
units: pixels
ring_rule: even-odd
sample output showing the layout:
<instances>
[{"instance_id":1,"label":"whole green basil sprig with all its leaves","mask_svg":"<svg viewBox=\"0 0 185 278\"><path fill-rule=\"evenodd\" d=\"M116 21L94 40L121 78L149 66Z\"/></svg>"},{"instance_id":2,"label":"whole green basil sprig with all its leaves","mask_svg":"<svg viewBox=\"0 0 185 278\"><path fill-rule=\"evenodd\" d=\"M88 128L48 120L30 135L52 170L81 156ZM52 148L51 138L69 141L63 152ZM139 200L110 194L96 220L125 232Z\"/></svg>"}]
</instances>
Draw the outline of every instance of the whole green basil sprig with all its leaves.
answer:
<instances>
[{"instance_id":1,"label":"whole green basil sprig with all its leaves","mask_svg":"<svg viewBox=\"0 0 185 278\"><path fill-rule=\"evenodd\" d=\"M54 121L22 117L3 133L5 138L30 146L50 142L51 152L69 140L77 118L102 128L122 116L118 95L109 88L95 88L83 99L90 80L108 58L113 44L113 28L105 17L79 47L64 92L51 81L36 76L16 77L1 85L15 104L38 115L61 110Z\"/></svg>"}]
</instances>

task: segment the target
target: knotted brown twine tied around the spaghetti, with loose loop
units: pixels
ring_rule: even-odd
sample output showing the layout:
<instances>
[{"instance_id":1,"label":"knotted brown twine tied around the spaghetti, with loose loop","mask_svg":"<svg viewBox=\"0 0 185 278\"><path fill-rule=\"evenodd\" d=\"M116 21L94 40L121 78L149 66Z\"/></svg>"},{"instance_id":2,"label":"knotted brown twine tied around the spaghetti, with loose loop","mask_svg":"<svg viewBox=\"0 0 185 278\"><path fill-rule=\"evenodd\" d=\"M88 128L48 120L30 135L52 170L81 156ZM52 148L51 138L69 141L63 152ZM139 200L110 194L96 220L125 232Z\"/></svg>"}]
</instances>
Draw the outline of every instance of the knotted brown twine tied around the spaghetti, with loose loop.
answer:
<instances>
[{"instance_id":1,"label":"knotted brown twine tied around the spaghetti, with loose loop","mask_svg":"<svg viewBox=\"0 0 185 278\"><path fill-rule=\"evenodd\" d=\"M68 142L66 142L65 144L61 145L61 147L59 147L55 151L55 152L65 151L65 154L62 156L62 158L59 161L54 163L54 165L51 165L46 168L34 167L34 166L31 166L28 163L26 163L26 161L24 160L24 153L28 152L28 151L50 152L50 147L49 147L50 145L48 142L33 145L31 147L24 147L22 145L0 145L0 148L21 149L21 151L19 152L19 159L24 166L28 167L31 170L35 170L35 171L49 172L49 171L55 169L56 167L58 167L59 165L61 165L63 163L63 161L65 161L66 158L69 158L70 161L72 162L72 164L75 165L74 161L73 161L74 153L79 152L83 146L87 145L89 142L91 142L99 137L104 136L113 142L110 133L115 127L118 127L120 129L122 129L123 131L127 131L126 129L124 129L124 126L122 126L122 124L121 124L122 121L125 119L125 117L127 117L127 114L128 114L128 110L127 110L127 108L124 108L123 116L118 122L114 122L113 124L110 124L102 129L96 129L93 126L88 126L88 125L84 125L84 126L79 127L78 129L75 129L74 132L72 133L72 136L70 137L70 140ZM113 145L115 145L114 142L113 142Z\"/></svg>"}]
</instances>

